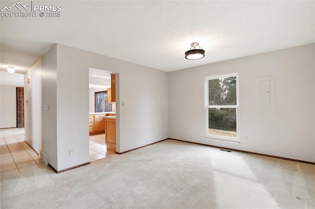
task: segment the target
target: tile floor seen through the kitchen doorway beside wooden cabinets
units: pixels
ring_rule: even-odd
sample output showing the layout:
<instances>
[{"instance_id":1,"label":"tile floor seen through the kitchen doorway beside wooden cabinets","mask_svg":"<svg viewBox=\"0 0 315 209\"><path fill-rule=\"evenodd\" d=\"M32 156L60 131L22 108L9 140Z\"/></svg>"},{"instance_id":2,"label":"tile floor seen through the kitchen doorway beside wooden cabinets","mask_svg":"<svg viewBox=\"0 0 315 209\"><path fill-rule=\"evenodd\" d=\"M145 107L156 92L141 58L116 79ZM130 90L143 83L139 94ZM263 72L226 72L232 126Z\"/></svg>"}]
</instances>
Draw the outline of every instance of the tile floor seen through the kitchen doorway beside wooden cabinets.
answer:
<instances>
[{"instance_id":1,"label":"tile floor seen through the kitchen doorway beside wooden cabinets","mask_svg":"<svg viewBox=\"0 0 315 209\"><path fill-rule=\"evenodd\" d=\"M90 136L90 162L111 155L115 153L106 149L105 134Z\"/></svg>"}]
</instances>

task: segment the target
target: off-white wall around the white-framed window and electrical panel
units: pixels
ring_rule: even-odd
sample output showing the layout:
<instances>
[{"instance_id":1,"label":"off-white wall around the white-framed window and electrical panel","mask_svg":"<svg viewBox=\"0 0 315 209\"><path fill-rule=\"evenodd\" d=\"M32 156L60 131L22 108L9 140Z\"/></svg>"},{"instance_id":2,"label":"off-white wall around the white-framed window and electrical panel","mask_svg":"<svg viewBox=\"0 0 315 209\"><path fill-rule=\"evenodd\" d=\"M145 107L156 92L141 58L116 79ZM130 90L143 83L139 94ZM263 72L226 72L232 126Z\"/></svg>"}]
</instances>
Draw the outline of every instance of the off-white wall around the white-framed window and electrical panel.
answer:
<instances>
[{"instance_id":1,"label":"off-white wall around the white-framed window and electrical panel","mask_svg":"<svg viewBox=\"0 0 315 209\"><path fill-rule=\"evenodd\" d=\"M169 137L315 162L314 60L309 44L170 72ZM235 72L241 141L206 140L204 77ZM255 78L262 76L275 77L276 114L255 112Z\"/></svg>"}]
</instances>

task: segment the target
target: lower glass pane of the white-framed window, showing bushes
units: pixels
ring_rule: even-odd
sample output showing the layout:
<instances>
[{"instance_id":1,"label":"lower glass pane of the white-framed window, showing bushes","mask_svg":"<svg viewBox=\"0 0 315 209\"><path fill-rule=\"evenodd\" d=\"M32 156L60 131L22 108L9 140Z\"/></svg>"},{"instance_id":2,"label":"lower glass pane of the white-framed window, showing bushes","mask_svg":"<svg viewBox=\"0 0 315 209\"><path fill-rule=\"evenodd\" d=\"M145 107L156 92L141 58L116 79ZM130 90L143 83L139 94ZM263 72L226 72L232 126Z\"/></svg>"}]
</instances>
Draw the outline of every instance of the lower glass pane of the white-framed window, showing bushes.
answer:
<instances>
[{"instance_id":1,"label":"lower glass pane of the white-framed window, showing bushes","mask_svg":"<svg viewBox=\"0 0 315 209\"><path fill-rule=\"evenodd\" d=\"M209 108L208 133L236 137L236 108Z\"/></svg>"}]
</instances>

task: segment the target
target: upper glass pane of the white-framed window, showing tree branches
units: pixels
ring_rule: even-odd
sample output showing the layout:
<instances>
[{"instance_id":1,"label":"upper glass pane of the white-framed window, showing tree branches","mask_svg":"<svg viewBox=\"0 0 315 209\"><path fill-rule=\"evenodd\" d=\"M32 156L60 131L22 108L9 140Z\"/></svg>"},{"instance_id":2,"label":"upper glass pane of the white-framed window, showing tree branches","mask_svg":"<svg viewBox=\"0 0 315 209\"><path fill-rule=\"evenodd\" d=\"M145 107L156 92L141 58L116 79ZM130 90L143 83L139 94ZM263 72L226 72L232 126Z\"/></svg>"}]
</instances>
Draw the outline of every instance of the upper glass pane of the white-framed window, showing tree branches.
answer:
<instances>
[{"instance_id":1,"label":"upper glass pane of the white-framed window, showing tree branches","mask_svg":"<svg viewBox=\"0 0 315 209\"><path fill-rule=\"evenodd\" d=\"M208 80L209 105L237 105L236 77Z\"/></svg>"}]
</instances>

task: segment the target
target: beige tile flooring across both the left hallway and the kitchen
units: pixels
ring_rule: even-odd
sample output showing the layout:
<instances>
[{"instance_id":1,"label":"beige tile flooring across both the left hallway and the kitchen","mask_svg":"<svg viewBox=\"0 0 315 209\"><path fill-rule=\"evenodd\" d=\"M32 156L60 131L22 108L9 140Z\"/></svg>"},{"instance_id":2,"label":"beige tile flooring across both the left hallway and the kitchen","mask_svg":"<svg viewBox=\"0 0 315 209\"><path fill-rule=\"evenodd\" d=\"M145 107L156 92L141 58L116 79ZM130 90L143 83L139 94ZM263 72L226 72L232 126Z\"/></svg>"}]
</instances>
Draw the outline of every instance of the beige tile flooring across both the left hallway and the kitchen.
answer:
<instances>
[{"instance_id":1,"label":"beige tile flooring across both the left hallway and the kitchen","mask_svg":"<svg viewBox=\"0 0 315 209\"><path fill-rule=\"evenodd\" d=\"M47 166L24 141L24 134L0 137L0 176ZM90 162L115 155L106 150L105 134L90 136Z\"/></svg>"}]
</instances>

